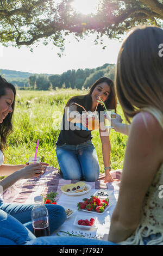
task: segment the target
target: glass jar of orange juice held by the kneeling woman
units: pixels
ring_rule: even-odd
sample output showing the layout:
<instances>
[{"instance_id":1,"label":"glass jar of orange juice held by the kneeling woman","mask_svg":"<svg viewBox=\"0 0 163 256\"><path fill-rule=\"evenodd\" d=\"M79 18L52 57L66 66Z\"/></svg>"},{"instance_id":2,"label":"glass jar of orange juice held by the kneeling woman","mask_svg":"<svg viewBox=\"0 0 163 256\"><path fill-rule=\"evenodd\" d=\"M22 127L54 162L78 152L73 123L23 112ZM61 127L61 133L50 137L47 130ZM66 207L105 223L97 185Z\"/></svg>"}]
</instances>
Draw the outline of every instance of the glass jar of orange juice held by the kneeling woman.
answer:
<instances>
[{"instance_id":1,"label":"glass jar of orange juice held by the kneeling woman","mask_svg":"<svg viewBox=\"0 0 163 256\"><path fill-rule=\"evenodd\" d=\"M99 129L99 118L97 112L87 113L86 128L90 131Z\"/></svg>"}]
</instances>

